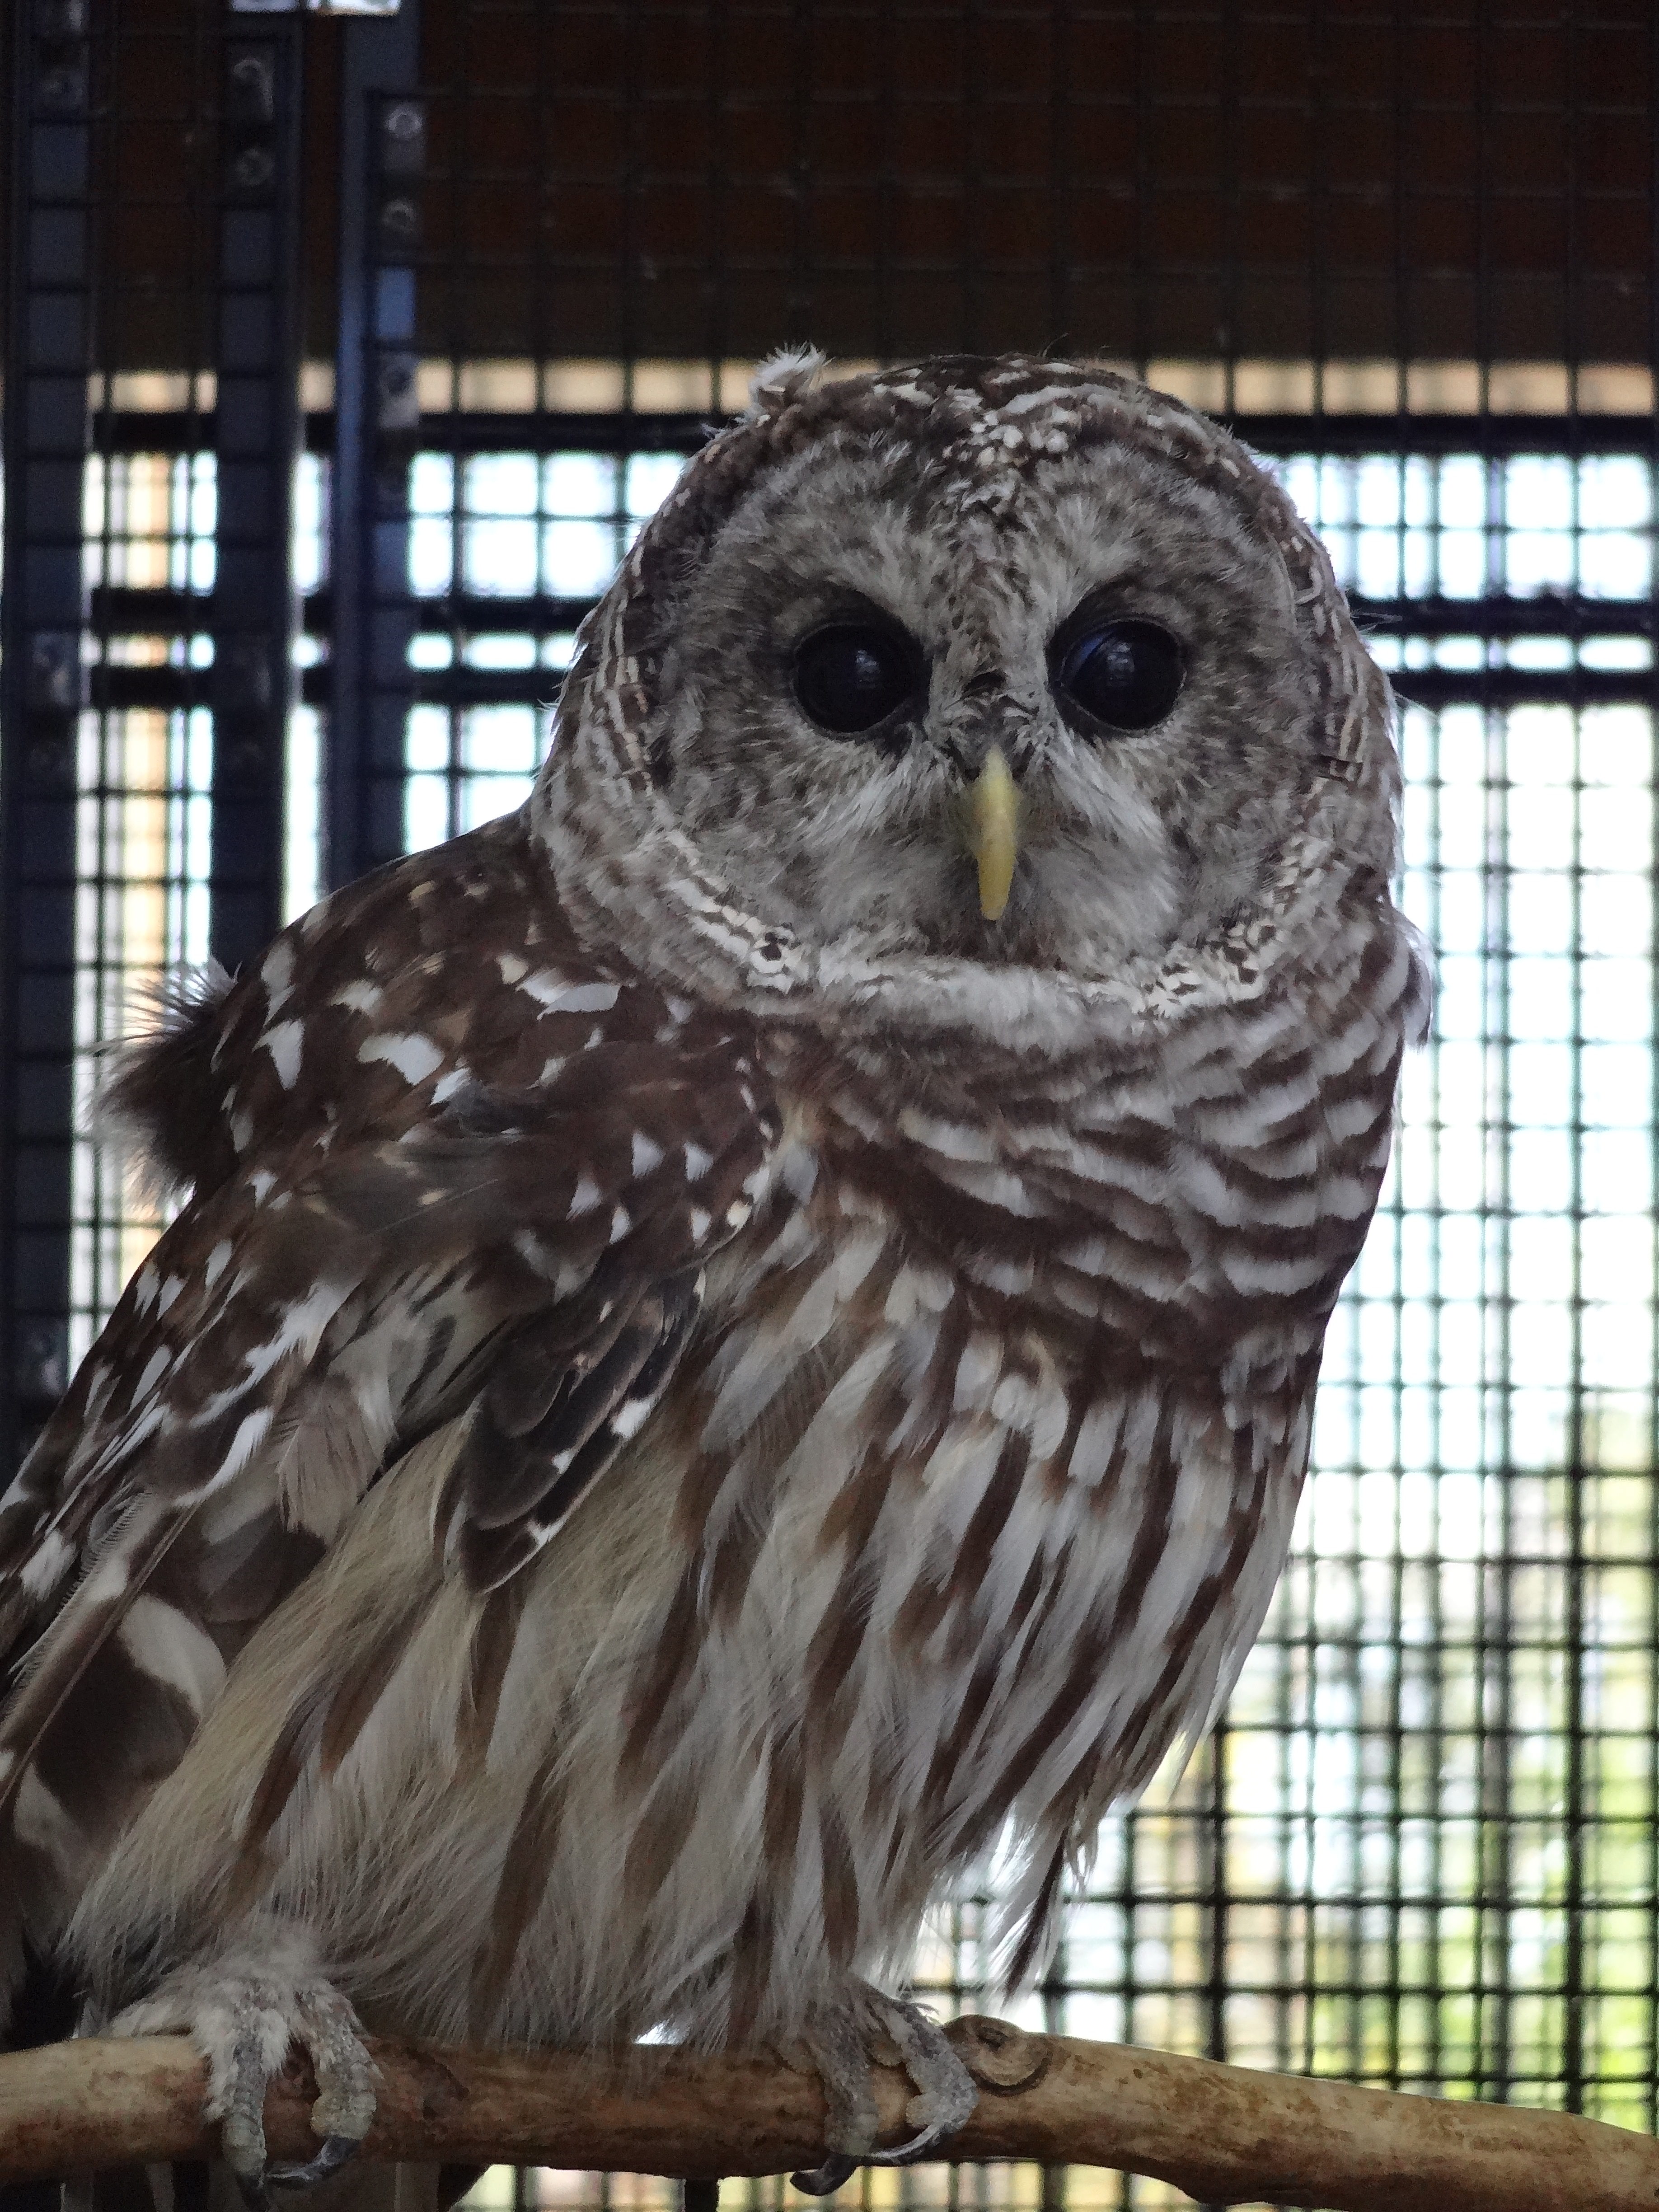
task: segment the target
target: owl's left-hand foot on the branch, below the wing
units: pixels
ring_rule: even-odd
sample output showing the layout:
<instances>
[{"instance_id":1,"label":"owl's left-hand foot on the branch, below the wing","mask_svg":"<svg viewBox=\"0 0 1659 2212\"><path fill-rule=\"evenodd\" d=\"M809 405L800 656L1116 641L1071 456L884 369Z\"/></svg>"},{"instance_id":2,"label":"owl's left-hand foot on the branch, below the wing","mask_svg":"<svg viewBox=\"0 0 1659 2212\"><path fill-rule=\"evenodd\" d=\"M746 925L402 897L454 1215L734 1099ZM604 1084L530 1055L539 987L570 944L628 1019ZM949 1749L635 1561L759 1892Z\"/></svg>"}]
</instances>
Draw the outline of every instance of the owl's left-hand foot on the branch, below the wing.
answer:
<instances>
[{"instance_id":1,"label":"owl's left-hand foot on the branch, below the wing","mask_svg":"<svg viewBox=\"0 0 1659 2212\"><path fill-rule=\"evenodd\" d=\"M179 1966L128 2004L106 2035L186 2033L208 2062L204 2119L217 2119L226 2166L243 2203L268 2212L274 2188L325 2181L356 2152L374 2119L374 2062L361 2022L314 1962L299 1931L279 1931L206 1964ZM265 2088L288 2046L301 2044L316 2070L312 2130L319 2150L303 2163L265 2163Z\"/></svg>"}]
</instances>

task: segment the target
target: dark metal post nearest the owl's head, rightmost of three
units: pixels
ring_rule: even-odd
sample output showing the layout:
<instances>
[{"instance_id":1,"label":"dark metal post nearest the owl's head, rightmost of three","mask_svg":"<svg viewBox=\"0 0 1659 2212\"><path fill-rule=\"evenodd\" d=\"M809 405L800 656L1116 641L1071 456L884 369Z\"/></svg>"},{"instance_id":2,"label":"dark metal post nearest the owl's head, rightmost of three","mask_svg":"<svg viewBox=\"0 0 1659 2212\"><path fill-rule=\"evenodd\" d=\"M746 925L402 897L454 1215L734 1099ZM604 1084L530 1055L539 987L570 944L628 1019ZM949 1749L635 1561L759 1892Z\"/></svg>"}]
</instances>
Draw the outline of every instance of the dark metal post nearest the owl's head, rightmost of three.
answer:
<instances>
[{"instance_id":1,"label":"dark metal post nearest the owl's head, rightmost of three","mask_svg":"<svg viewBox=\"0 0 1659 2212\"><path fill-rule=\"evenodd\" d=\"M334 365L332 681L325 883L403 852L409 677L409 451L416 389L418 179L427 111L418 0L345 27L341 321Z\"/></svg>"}]
</instances>

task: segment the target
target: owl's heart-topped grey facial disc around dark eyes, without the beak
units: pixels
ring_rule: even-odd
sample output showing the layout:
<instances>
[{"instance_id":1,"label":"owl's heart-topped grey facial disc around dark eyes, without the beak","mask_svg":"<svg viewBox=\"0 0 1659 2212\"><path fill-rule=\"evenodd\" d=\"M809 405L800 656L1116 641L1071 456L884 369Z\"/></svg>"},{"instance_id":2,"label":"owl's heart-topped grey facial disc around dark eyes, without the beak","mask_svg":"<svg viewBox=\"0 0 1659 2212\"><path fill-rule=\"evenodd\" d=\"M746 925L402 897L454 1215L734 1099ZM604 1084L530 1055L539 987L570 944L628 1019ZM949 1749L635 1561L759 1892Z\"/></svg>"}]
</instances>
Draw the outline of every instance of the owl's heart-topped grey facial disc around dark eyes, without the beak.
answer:
<instances>
[{"instance_id":1,"label":"owl's heart-topped grey facial disc around dark eyes, without the beak","mask_svg":"<svg viewBox=\"0 0 1659 2212\"><path fill-rule=\"evenodd\" d=\"M989 531L902 456L765 478L692 580L653 754L719 874L805 942L1104 975L1259 887L1312 690L1272 546L1203 484L1095 447ZM1015 787L987 920L971 792Z\"/></svg>"}]
</instances>

